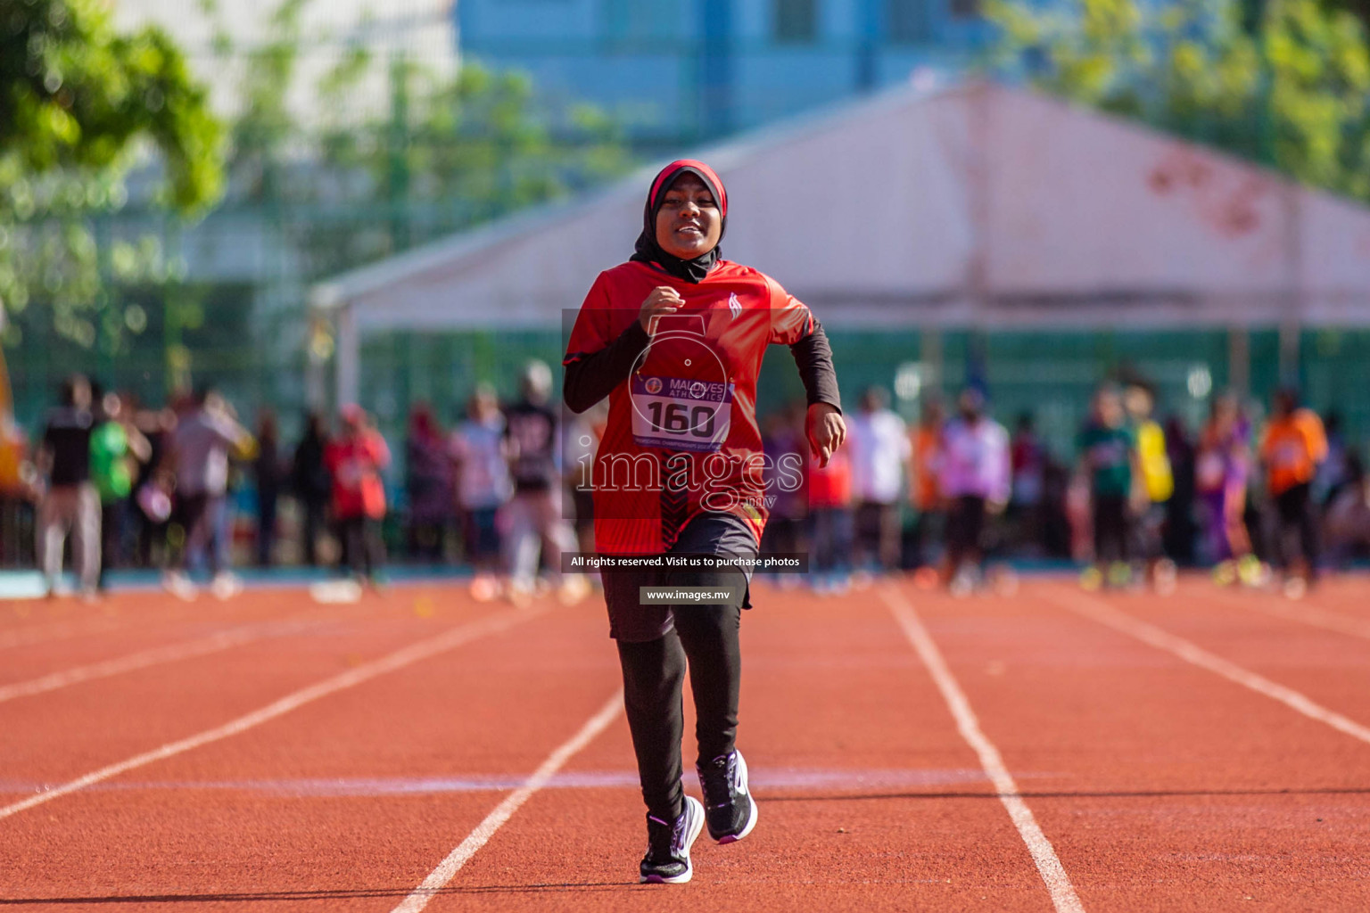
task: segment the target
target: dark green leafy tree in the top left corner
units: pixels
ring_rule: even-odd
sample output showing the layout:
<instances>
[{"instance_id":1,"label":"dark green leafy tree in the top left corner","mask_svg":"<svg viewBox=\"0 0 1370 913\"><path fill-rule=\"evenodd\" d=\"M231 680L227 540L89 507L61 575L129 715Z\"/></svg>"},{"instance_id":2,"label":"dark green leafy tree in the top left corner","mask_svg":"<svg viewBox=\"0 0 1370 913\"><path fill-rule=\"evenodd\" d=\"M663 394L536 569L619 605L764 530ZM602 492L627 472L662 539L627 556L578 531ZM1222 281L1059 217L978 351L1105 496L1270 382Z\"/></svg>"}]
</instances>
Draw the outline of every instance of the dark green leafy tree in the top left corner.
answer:
<instances>
[{"instance_id":1,"label":"dark green leafy tree in the top left corner","mask_svg":"<svg viewBox=\"0 0 1370 913\"><path fill-rule=\"evenodd\" d=\"M100 313L108 277L147 278L155 245L101 238L125 175L153 149L158 201L182 214L218 198L221 127L166 33L119 34L100 0L0 0L0 301L52 308L58 331L96 341L137 319Z\"/></svg>"}]
</instances>

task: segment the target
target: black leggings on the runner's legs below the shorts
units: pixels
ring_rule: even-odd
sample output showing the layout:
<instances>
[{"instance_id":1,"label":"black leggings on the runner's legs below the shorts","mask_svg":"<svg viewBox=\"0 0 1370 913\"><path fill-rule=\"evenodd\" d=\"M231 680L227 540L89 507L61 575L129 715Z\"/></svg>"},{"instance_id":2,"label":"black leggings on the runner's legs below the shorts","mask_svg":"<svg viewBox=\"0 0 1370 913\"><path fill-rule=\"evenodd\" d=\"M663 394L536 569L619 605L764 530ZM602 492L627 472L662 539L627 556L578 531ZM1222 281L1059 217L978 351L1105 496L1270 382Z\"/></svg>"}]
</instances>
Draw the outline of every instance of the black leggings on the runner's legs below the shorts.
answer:
<instances>
[{"instance_id":1,"label":"black leggings on the runner's legs below the shorts","mask_svg":"<svg viewBox=\"0 0 1370 913\"><path fill-rule=\"evenodd\" d=\"M674 821L681 813L681 689L689 663L695 694L699 760L733 750L743 656L737 645L741 609L736 605L675 608L675 628L655 641L618 641L623 702L633 732L637 771L648 814Z\"/></svg>"}]
</instances>

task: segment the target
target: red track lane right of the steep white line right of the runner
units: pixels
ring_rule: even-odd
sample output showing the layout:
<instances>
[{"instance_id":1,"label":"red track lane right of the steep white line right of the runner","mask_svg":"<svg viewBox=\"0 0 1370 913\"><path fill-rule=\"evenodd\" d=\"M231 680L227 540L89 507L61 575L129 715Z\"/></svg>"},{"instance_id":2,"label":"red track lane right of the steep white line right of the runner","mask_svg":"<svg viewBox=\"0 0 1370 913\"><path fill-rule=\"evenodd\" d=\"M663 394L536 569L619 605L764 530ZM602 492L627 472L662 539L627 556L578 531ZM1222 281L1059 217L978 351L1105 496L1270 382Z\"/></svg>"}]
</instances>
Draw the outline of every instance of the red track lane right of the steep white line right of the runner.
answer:
<instances>
[{"instance_id":1,"label":"red track lane right of the steep white line right of the runner","mask_svg":"<svg viewBox=\"0 0 1370 913\"><path fill-rule=\"evenodd\" d=\"M1054 591L1074 590L930 600L923 616L1010 767L1049 772L1025 794L1085 909L1370 905L1370 746ZM1230 613L1232 635L1251 617Z\"/></svg>"}]
</instances>

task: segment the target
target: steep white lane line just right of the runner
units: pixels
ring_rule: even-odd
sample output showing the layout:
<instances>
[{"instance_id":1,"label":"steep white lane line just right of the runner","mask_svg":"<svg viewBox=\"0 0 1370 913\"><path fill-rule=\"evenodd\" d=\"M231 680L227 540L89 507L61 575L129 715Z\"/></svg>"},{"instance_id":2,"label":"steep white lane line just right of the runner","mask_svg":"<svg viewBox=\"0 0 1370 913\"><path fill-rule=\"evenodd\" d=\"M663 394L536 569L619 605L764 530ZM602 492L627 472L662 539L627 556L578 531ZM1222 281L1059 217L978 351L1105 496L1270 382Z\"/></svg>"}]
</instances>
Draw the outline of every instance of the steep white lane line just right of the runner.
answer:
<instances>
[{"instance_id":1,"label":"steep white lane line just right of the runner","mask_svg":"<svg viewBox=\"0 0 1370 913\"><path fill-rule=\"evenodd\" d=\"M1028 808L1022 793L1018 791L1018 784L1008 772L1008 767L1004 765L1004 758L999 754L999 749L995 747L995 743L980 728L980 720L975 717L975 712L966 698L966 693L956 683L951 668L948 668L947 661L943 658L941 650L937 649L937 643L919 620L918 612L904 598L904 594L893 586L882 587L881 595L885 597L885 604L893 612L895 620L904 630L904 635L918 653L918 658L927 667L927 672L937 684L937 690L941 691L943 699L947 701L947 708L956 720L956 730L960 732L960 738L966 739L975 754L980 756L980 767L985 769L989 782L995 784L999 801L1003 802L1014 827L1018 828L1018 835L1028 845L1028 853L1032 854L1033 862L1037 864L1041 880L1047 884L1047 891L1051 892L1052 906L1056 908L1058 913L1084 913L1085 908L1075 894L1075 887L1070 883L1070 876L1066 875L1064 866L1056 857L1056 850L1052 847L1051 840L1047 839L1047 835L1041 832L1037 819L1033 817L1032 809Z\"/></svg>"}]
</instances>

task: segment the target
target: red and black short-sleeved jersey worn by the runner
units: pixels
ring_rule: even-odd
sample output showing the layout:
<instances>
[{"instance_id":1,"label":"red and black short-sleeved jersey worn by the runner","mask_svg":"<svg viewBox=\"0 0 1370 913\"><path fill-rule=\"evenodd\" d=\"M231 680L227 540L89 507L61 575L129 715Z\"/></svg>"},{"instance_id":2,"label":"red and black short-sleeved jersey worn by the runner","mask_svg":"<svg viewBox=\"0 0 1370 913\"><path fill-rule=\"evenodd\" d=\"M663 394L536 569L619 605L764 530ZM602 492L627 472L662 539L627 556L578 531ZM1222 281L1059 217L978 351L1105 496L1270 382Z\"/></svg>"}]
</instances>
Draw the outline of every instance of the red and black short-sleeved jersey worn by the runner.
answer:
<instances>
[{"instance_id":1,"label":"red and black short-sleeved jersey worn by the runner","mask_svg":"<svg viewBox=\"0 0 1370 913\"><path fill-rule=\"evenodd\" d=\"M810 309L766 274L721 260L700 282L629 261L599 275L563 364L600 352L638 319L656 286L685 300L660 318L627 379L610 393L595 456L595 542L603 553L658 553L703 512L734 513L758 541L766 523L756 379L771 344L815 330Z\"/></svg>"}]
</instances>

